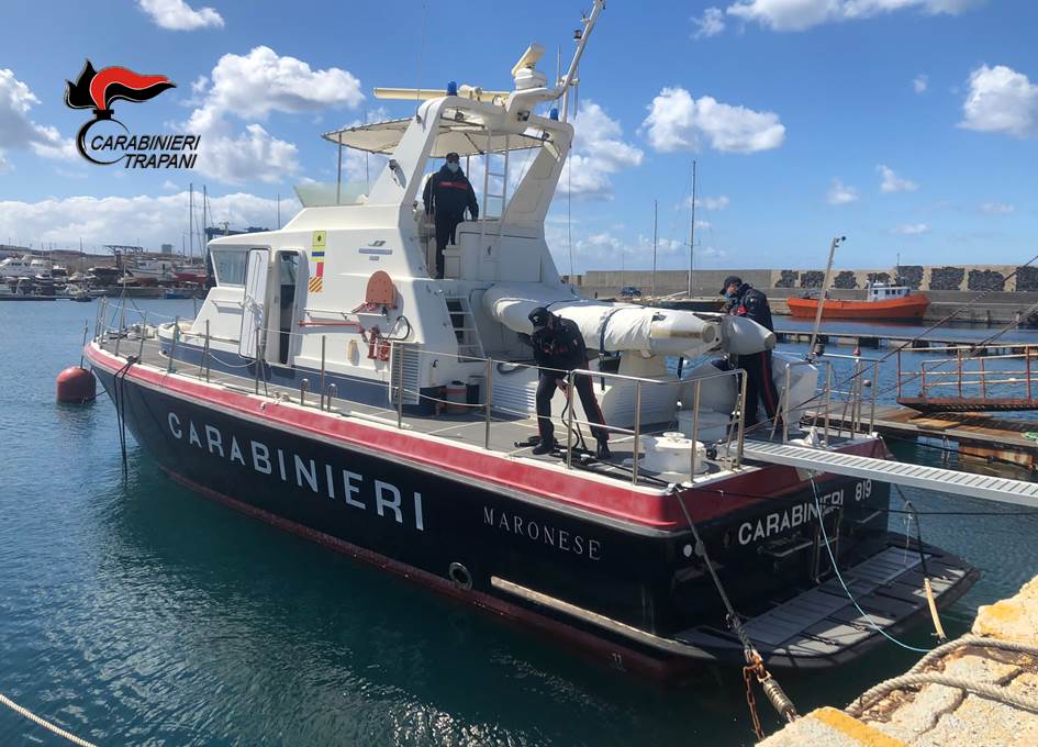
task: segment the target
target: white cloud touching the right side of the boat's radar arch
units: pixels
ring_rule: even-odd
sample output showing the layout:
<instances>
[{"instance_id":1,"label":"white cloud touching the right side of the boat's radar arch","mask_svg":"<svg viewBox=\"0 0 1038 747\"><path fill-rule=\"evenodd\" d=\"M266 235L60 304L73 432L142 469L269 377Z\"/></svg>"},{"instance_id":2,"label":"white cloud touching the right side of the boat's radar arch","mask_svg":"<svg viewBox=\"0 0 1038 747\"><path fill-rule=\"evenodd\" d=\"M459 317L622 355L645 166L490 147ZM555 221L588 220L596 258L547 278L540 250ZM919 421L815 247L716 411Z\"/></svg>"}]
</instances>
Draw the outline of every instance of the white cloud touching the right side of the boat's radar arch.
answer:
<instances>
[{"instance_id":1,"label":"white cloud touching the right side of the boat's radar arch","mask_svg":"<svg viewBox=\"0 0 1038 747\"><path fill-rule=\"evenodd\" d=\"M599 104L583 101L573 123L577 140L566 160L558 192L588 199L610 199L611 176L624 168L641 164L640 148L622 140L620 122L610 118Z\"/></svg>"}]
</instances>

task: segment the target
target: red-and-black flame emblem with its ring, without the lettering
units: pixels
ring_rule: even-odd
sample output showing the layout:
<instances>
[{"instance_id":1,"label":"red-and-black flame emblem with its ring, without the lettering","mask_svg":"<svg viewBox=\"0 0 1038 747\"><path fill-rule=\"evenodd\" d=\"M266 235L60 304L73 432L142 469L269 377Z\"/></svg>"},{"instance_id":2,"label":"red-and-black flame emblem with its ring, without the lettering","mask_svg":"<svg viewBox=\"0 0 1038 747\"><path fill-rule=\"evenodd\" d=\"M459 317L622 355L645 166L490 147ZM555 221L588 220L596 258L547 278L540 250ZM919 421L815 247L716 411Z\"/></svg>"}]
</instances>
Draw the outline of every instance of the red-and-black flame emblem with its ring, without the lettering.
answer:
<instances>
[{"instance_id":1,"label":"red-and-black flame emblem with its ring, without the lettering","mask_svg":"<svg viewBox=\"0 0 1038 747\"><path fill-rule=\"evenodd\" d=\"M115 161L98 160L87 150L86 141L90 127L98 122L111 121L126 130L122 122L112 116L114 113L112 102L133 101L141 103L154 99L165 90L177 87L164 75L139 75L125 67L105 67L101 70L94 70L89 59L83 65L82 71L75 83L71 80L65 82L65 105L71 109L93 110L93 119L79 129L76 147L83 158L99 166L107 166Z\"/></svg>"}]
</instances>

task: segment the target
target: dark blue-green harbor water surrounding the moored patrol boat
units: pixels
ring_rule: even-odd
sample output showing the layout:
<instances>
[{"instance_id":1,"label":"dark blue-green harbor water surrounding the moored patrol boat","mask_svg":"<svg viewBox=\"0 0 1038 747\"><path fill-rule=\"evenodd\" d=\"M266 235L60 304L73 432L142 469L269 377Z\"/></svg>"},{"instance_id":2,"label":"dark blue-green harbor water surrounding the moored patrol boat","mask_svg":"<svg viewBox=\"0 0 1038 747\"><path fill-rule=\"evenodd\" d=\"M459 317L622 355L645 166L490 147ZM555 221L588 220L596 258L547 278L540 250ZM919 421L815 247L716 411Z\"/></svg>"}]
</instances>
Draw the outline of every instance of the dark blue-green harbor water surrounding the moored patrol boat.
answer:
<instances>
[{"instance_id":1,"label":"dark blue-green harbor water surrounding the moored patrol boat","mask_svg":"<svg viewBox=\"0 0 1038 747\"><path fill-rule=\"evenodd\" d=\"M191 301L137 304L152 317L192 314ZM124 482L110 401L54 402L94 313L0 304L0 692L105 745L752 744L737 666L660 685L592 664L197 495L132 437ZM945 613L949 635L1038 573L1031 512L907 494L924 539L982 573ZM905 514L890 522L915 532ZM926 628L908 640L934 643ZM801 711L842 705L917 656L889 645L780 680ZM18 744L62 743L0 709L0 745Z\"/></svg>"}]
</instances>

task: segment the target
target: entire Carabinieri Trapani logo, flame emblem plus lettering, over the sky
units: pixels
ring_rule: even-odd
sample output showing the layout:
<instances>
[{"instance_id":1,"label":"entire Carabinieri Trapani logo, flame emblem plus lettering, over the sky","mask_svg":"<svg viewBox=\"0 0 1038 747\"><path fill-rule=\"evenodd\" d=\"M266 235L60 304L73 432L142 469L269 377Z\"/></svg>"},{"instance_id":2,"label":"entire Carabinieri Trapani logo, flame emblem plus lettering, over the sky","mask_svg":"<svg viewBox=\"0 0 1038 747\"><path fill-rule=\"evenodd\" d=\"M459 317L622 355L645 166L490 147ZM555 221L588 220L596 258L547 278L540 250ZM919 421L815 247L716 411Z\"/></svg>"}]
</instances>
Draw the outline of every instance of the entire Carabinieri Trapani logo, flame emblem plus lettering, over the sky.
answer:
<instances>
[{"instance_id":1,"label":"entire Carabinieri Trapani logo, flame emblem plus lettering, over the sky","mask_svg":"<svg viewBox=\"0 0 1038 747\"><path fill-rule=\"evenodd\" d=\"M79 129L76 147L91 164L110 166L124 161L124 168L193 168L201 135L132 135L112 114L113 101L149 101L177 85L164 75L138 75L125 67L94 70L90 60L74 83L66 80L65 104L71 109L92 109L93 119ZM98 124L104 127L89 137ZM89 142L88 142L89 137ZM115 156L112 158L111 156Z\"/></svg>"}]
</instances>

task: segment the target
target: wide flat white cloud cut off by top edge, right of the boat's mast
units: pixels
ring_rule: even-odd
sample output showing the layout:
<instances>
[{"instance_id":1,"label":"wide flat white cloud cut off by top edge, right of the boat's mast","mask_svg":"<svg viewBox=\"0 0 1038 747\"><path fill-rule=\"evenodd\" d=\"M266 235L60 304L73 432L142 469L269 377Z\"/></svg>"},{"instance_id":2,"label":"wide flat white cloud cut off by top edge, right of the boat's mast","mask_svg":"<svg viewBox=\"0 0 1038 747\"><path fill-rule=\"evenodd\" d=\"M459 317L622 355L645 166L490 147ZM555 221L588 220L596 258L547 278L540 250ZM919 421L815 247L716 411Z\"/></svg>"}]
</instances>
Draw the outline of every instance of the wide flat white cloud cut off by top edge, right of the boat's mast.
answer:
<instances>
[{"instance_id":1,"label":"wide flat white cloud cut off by top edge, right of the boat's mast","mask_svg":"<svg viewBox=\"0 0 1038 747\"><path fill-rule=\"evenodd\" d=\"M882 13L915 9L936 15L958 15L985 0L739 0L727 13L773 31L804 31L823 23L858 21Z\"/></svg>"}]
</instances>

